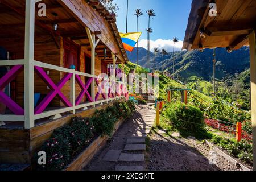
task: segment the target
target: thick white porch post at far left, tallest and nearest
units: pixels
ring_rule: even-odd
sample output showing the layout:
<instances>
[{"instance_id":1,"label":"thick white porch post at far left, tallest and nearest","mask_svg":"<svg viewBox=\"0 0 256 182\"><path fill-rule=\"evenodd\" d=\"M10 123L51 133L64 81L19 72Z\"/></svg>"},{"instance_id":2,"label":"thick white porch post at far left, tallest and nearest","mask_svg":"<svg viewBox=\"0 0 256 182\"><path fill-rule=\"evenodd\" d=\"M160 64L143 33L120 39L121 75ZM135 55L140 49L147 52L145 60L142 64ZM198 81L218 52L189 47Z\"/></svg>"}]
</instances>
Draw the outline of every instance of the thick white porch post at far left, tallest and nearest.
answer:
<instances>
[{"instance_id":1,"label":"thick white porch post at far left, tallest and nearest","mask_svg":"<svg viewBox=\"0 0 256 182\"><path fill-rule=\"evenodd\" d=\"M25 129L35 126L34 122L34 35L35 0L26 0L24 52L24 117Z\"/></svg>"}]
</instances>

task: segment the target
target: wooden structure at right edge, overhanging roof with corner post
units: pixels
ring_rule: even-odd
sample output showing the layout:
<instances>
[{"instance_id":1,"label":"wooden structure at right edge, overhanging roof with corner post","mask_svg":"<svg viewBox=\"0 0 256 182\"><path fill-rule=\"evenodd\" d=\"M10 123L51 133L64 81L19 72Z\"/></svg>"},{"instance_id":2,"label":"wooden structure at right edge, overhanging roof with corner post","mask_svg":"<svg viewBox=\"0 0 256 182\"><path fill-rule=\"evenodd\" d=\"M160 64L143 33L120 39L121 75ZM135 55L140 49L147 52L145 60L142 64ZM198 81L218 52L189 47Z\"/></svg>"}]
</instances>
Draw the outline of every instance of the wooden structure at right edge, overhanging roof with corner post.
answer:
<instances>
[{"instance_id":1,"label":"wooden structure at right edge, overhanging roof with corner post","mask_svg":"<svg viewBox=\"0 0 256 182\"><path fill-rule=\"evenodd\" d=\"M256 169L255 0L193 0L183 49L224 47L230 53L250 46L253 166Z\"/></svg>"}]
</instances>

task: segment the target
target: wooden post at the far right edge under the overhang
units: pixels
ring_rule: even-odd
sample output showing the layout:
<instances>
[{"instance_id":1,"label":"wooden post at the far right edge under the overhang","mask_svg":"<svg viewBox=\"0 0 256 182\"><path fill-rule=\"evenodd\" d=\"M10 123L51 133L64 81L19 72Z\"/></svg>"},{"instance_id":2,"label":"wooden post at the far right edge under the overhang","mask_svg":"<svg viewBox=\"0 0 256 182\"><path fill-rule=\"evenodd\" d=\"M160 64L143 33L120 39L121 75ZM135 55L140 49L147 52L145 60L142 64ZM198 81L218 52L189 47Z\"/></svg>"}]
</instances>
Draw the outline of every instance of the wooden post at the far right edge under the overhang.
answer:
<instances>
[{"instance_id":1,"label":"wooden post at the far right edge under the overhang","mask_svg":"<svg viewBox=\"0 0 256 182\"><path fill-rule=\"evenodd\" d=\"M255 30L250 34L251 122L253 125L253 169L256 171L256 43Z\"/></svg>"}]
</instances>

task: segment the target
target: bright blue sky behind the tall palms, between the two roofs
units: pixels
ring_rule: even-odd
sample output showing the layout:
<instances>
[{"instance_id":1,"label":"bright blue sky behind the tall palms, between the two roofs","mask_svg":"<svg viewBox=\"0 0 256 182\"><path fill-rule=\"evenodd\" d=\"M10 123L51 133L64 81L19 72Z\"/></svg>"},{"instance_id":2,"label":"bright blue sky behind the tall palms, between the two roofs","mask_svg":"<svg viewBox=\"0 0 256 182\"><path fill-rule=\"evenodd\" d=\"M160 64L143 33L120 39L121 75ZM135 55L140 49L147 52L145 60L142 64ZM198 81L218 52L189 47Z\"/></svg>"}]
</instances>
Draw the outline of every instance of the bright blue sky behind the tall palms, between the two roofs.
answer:
<instances>
[{"instance_id":1,"label":"bright blue sky behind the tall palms, between the two roofs","mask_svg":"<svg viewBox=\"0 0 256 182\"><path fill-rule=\"evenodd\" d=\"M117 26L120 32L126 30L126 0L115 0L119 7ZM192 0L129 0L129 16L128 16L128 32L136 31L135 9L142 9L143 14L139 18L139 31L141 36L142 47L144 47L147 39L146 28L148 26L148 16L146 11L154 9L156 17L151 19L151 28L154 33L151 34L152 48L154 46L171 49L171 40L174 36L183 40L185 30L187 28L188 16L191 10ZM168 44L168 45L166 45ZM170 45L169 45L170 44ZM167 46L167 47L166 47ZM182 42L177 45L179 48Z\"/></svg>"}]
</instances>

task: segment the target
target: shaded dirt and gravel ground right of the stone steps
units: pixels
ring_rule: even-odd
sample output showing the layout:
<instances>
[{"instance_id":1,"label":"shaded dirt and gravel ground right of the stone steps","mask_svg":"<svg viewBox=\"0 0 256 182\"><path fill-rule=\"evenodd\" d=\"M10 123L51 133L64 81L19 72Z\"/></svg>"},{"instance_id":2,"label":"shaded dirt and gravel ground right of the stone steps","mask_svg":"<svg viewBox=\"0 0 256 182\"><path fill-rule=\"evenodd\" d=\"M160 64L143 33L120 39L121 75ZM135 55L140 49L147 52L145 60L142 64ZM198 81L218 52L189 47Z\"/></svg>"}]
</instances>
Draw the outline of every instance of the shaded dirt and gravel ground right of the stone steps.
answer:
<instances>
[{"instance_id":1,"label":"shaded dirt and gravel ground right of the stone steps","mask_svg":"<svg viewBox=\"0 0 256 182\"><path fill-rule=\"evenodd\" d=\"M151 135L147 170L152 171L241 171L217 155L216 165L210 164L210 148L195 138Z\"/></svg>"}]
</instances>

